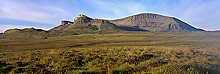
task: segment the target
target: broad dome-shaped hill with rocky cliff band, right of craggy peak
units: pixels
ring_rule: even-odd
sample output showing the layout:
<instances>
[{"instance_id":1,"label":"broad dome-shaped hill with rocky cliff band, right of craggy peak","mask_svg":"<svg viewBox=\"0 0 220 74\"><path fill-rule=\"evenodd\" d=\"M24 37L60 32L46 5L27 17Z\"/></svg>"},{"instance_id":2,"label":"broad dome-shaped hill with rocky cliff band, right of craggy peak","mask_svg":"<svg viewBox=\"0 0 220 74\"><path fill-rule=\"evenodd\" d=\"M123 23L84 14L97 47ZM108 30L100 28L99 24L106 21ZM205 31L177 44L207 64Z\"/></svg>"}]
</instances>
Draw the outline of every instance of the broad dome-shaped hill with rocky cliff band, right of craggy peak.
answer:
<instances>
[{"instance_id":1,"label":"broad dome-shaped hill with rocky cliff band, right of craggy peak","mask_svg":"<svg viewBox=\"0 0 220 74\"><path fill-rule=\"evenodd\" d=\"M174 17L162 16L152 13L142 13L110 22L122 27L134 27L152 32L167 31L203 31Z\"/></svg>"}]
</instances>

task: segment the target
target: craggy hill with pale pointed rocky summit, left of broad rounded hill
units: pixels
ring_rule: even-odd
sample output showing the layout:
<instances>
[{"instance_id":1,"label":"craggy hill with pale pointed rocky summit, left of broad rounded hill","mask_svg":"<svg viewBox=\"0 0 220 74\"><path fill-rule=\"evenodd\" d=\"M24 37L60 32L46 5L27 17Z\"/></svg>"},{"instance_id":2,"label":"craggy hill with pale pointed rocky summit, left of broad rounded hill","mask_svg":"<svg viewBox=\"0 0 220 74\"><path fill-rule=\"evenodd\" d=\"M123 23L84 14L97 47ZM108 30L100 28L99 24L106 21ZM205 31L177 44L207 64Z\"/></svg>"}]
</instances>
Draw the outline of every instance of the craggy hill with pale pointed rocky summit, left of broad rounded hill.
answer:
<instances>
[{"instance_id":1,"label":"craggy hill with pale pointed rocky summit, left of broad rounded hill","mask_svg":"<svg viewBox=\"0 0 220 74\"><path fill-rule=\"evenodd\" d=\"M96 33L120 30L115 24L108 20L92 19L85 15L78 15L71 21L62 21L61 25L50 30L50 32L61 33Z\"/></svg>"}]
</instances>

